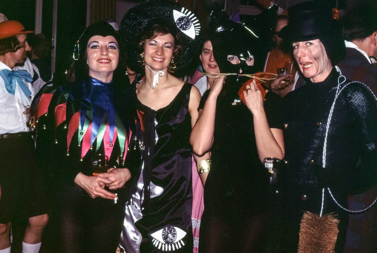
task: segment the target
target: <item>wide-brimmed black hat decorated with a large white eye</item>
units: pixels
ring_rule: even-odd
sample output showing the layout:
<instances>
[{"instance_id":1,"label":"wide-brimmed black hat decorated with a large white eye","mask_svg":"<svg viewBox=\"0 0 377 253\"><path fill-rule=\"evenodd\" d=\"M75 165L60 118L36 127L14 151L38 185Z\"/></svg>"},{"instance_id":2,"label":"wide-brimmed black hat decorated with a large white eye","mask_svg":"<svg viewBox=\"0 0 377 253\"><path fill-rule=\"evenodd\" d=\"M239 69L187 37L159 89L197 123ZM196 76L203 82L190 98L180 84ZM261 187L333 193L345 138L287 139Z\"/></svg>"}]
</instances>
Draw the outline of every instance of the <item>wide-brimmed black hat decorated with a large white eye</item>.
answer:
<instances>
[{"instance_id":1,"label":"wide-brimmed black hat decorated with a large white eye","mask_svg":"<svg viewBox=\"0 0 377 253\"><path fill-rule=\"evenodd\" d=\"M175 33L180 33L182 53L174 57L176 71L198 58L202 46L199 39L201 27L195 14L171 0L147 0L129 9L119 28L124 52L136 70L142 70L138 64L141 53L137 41L139 34L152 24L167 25L167 28L173 29Z\"/></svg>"}]
</instances>

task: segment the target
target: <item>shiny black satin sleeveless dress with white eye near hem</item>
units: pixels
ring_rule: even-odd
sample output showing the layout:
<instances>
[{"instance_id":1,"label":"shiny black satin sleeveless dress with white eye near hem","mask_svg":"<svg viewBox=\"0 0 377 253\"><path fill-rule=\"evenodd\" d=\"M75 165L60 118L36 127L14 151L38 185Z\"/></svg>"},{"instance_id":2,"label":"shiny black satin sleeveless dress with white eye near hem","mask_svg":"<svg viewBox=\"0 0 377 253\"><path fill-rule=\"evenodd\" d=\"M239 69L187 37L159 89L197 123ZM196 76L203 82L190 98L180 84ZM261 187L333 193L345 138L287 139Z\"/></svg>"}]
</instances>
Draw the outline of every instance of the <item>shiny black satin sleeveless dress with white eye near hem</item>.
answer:
<instances>
[{"instance_id":1,"label":"shiny black satin sleeveless dress with white eye near hem","mask_svg":"<svg viewBox=\"0 0 377 253\"><path fill-rule=\"evenodd\" d=\"M126 204L120 248L127 253L193 250L191 88L184 84L157 111L136 102L143 165Z\"/></svg>"}]
</instances>

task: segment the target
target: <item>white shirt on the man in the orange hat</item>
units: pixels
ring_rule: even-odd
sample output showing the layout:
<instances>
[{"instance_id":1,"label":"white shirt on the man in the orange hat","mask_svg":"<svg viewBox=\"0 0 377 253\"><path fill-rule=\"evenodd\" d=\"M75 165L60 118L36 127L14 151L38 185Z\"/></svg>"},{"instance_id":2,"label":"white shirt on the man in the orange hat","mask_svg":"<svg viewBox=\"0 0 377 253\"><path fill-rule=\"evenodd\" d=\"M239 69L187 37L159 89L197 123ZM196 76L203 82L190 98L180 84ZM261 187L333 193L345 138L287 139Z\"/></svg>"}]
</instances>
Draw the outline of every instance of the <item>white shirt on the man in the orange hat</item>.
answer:
<instances>
[{"instance_id":1,"label":"white shirt on the man in the orange hat","mask_svg":"<svg viewBox=\"0 0 377 253\"><path fill-rule=\"evenodd\" d=\"M0 70L3 69L12 70L0 61ZM29 114L24 112L25 107L31 105L35 92L30 82L25 82L25 84L31 91L31 98L26 98L18 84L16 84L15 94L10 94L5 88L4 80L0 78L0 134L31 131L26 126Z\"/></svg>"}]
</instances>

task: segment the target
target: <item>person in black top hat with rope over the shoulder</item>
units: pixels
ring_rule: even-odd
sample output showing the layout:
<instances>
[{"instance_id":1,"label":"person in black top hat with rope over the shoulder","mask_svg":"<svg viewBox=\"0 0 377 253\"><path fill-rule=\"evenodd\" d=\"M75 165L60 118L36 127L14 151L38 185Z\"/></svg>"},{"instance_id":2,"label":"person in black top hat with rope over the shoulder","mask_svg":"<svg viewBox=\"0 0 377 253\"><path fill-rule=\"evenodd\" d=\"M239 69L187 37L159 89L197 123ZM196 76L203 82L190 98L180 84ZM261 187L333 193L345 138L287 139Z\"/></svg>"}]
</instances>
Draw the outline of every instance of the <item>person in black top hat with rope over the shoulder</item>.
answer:
<instances>
[{"instance_id":1,"label":"person in black top hat with rope over the shoulder","mask_svg":"<svg viewBox=\"0 0 377 253\"><path fill-rule=\"evenodd\" d=\"M335 251L343 252L348 212L329 192L346 208L348 195L377 183L375 99L334 67L346 51L331 8L305 2L288 9L288 15L279 36L292 42L306 83L284 98L284 239L279 252L297 252L304 211L338 215Z\"/></svg>"}]
</instances>

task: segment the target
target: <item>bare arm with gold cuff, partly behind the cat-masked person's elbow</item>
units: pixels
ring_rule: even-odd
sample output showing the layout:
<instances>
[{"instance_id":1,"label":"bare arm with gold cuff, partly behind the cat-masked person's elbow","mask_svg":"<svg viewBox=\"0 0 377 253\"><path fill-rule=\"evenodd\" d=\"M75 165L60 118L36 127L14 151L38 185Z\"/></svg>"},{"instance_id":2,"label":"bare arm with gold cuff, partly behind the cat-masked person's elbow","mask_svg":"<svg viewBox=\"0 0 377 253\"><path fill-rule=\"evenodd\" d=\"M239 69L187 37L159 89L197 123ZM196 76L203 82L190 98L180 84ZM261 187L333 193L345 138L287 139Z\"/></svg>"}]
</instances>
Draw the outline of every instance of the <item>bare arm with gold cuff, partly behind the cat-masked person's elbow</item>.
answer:
<instances>
[{"instance_id":1,"label":"bare arm with gold cuff, partly behind the cat-masked person's elbow","mask_svg":"<svg viewBox=\"0 0 377 253\"><path fill-rule=\"evenodd\" d=\"M198 120L198 115L199 115L198 107L199 107L200 98L201 96L200 96L199 90L196 87L192 88L191 94L190 94L190 102L189 102L189 111L191 115L191 128L194 128ZM191 136L190 136L190 139L191 139ZM206 152L202 156L198 156L195 153L193 153L193 156L196 162L196 168L198 169L198 173L199 173L200 161L211 158L210 152ZM205 180L207 179L207 175L208 175L208 172L199 173L199 177L200 177L200 180L202 181L203 186L205 184Z\"/></svg>"}]
</instances>

